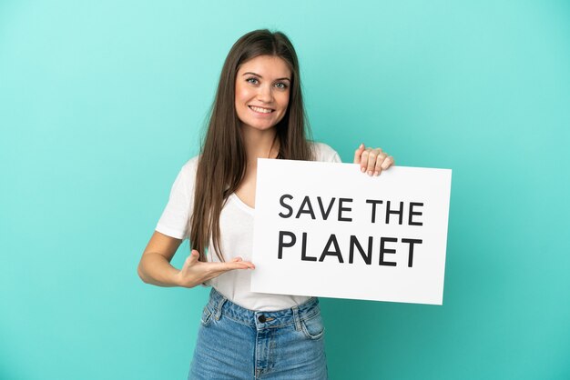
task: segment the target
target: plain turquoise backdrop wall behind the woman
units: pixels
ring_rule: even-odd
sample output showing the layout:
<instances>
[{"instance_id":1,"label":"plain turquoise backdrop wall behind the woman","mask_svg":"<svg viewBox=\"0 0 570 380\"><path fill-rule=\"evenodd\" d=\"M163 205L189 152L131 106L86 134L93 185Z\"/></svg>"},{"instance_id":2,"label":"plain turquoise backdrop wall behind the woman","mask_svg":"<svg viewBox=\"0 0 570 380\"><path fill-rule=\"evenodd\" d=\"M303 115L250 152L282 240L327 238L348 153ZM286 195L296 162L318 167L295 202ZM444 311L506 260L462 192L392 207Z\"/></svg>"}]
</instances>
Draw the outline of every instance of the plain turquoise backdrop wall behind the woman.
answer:
<instances>
[{"instance_id":1,"label":"plain turquoise backdrop wall behind the woman","mask_svg":"<svg viewBox=\"0 0 570 380\"><path fill-rule=\"evenodd\" d=\"M0 378L185 378L207 289L137 263L229 47L313 135L453 169L443 306L322 299L333 379L570 378L570 3L0 2ZM173 260L181 265L188 242Z\"/></svg>"}]
</instances>

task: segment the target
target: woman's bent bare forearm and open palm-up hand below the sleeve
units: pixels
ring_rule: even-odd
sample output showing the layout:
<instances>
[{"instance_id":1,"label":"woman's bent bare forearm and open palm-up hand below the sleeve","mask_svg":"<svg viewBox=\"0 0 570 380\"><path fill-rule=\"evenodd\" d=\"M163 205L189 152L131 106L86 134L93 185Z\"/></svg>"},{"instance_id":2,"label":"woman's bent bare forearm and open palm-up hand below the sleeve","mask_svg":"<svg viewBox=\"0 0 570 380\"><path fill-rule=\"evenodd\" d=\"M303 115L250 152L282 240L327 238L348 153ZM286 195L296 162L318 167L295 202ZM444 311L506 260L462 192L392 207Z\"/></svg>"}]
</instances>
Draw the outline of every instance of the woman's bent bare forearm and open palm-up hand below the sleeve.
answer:
<instances>
[{"instance_id":1,"label":"woman's bent bare forearm and open palm-up hand below the sleeve","mask_svg":"<svg viewBox=\"0 0 570 380\"><path fill-rule=\"evenodd\" d=\"M138 276L152 285L194 287L230 270L255 268L240 257L227 263L202 263L198 261L198 251L192 250L182 269L178 270L170 265L170 260L181 243L181 239L155 231L138 263Z\"/></svg>"}]
</instances>

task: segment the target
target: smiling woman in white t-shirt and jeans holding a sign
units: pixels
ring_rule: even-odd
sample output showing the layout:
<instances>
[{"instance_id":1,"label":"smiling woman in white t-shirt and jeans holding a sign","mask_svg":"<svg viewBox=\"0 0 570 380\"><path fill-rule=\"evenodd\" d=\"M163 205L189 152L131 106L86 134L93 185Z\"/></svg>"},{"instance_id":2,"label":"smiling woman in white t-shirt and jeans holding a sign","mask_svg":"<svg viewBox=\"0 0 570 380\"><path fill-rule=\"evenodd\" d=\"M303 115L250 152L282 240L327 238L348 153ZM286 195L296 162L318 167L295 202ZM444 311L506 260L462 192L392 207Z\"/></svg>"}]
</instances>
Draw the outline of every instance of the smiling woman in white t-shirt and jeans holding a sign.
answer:
<instances>
[{"instance_id":1,"label":"smiling woman in white t-shirt and jeans holding a sign","mask_svg":"<svg viewBox=\"0 0 570 380\"><path fill-rule=\"evenodd\" d=\"M138 265L148 284L212 286L189 379L327 378L317 298L249 291L257 159L341 162L307 135L290 40L243 35L223 65L201 154L180 170ZM361 145L354 163L380 175L393 159ZM169 263L185 238L192 251L178 270Z\"/></svg>"}]
</instances>

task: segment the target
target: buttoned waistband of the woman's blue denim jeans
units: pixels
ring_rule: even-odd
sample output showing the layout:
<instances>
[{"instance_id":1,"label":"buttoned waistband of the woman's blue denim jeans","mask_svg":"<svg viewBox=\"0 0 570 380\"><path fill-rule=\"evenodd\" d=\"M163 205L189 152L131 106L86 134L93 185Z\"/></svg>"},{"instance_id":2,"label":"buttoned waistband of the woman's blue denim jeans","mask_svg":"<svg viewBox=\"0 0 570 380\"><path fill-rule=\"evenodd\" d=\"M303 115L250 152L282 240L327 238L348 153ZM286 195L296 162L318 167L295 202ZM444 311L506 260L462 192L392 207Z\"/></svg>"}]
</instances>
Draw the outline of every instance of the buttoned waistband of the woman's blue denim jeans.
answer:
<instances>
[{"instance_id":1,"label":"buttoned waistband of the woman's blue denim jeans","mask_svg":"<svg viewBox=\"0 0 570 380\"><path fill-rule=\"evenodd\" d=\"M301 320L310 319L321 312L319 299L316 297L310 298L301 305L283 310L270 312L249 310L229 301L214 287L212 287L209 293L209 301L206 307L209 309L209 313L217 320L219 320L221 315L224 315L243 325L250 325L258 329L295 325L295 329L300 330Z\"/></svg>"}]
</instances>

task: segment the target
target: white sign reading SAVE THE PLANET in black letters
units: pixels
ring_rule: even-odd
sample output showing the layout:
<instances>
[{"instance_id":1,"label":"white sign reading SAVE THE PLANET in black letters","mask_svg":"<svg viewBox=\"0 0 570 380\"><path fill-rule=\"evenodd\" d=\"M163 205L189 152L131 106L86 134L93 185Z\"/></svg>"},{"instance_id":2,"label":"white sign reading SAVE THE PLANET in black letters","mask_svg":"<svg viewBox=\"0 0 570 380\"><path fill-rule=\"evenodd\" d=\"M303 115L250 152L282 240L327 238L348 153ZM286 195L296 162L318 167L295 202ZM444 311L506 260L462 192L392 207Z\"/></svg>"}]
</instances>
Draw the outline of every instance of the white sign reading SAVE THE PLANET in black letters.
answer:
<instances>
[{"instance_id":1,"label":"white sign reading SAVE THE PLANET in black letters","mask_svg":"<svg viewBox=\"0 0 570 380\"><path fill-rule=\"evenodd\" d=\"M251 291L442 305L451 175L260 159Z\"/></svg>"}]
</instances>

